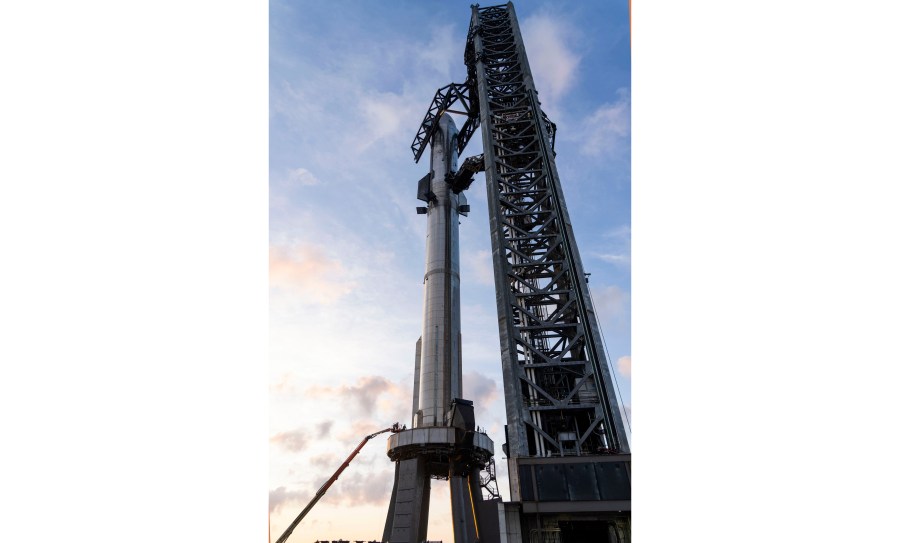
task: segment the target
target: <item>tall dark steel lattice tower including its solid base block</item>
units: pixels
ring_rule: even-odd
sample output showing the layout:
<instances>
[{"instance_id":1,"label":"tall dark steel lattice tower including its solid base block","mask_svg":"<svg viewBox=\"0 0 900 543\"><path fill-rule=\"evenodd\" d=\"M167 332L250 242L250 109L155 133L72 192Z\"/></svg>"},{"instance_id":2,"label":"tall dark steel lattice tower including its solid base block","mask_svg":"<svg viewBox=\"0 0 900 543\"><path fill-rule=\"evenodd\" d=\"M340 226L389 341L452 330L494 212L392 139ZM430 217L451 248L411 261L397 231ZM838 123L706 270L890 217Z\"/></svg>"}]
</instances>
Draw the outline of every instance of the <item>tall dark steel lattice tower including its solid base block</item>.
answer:
<instances>
[{"instance_id":1,"label":"tall dark steel lattice tower including its solid base block","mask_svg":"<svg viewBox=\"0 0 900 543\"><path fill-rule=\"evenodd\" d=\"M480 107L505 452L523 536L568 528L576 539L571 514L594 513L608 540L625 539L628 438L556 170L555 126L541 111L511 3L472 7L465 60ZM531 514L539 508L569 520L541 522Z\"/></svg>"}]
</instances>

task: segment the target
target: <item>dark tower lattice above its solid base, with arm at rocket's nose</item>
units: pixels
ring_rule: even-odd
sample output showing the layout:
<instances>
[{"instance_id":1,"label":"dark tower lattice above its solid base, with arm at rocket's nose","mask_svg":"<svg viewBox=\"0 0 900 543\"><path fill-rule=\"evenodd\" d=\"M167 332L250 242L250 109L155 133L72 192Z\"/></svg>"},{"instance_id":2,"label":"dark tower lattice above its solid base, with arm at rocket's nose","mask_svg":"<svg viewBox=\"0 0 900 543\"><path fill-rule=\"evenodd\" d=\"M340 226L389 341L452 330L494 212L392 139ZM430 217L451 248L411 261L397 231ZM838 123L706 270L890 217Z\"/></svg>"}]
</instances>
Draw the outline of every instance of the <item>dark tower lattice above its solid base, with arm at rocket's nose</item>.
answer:
<instances>
[{"instance_id":1,"label":"dark tower lattice above its solid base, with arm at rocket's nose","mask_svg":"<svg viewBox=\"0 0 900 543\"><path fill-rule=\"evenodd\" d=\"M484 140L508 455L629 452L554 163L556 125L540 108L512 4L472 7L465 59ZM461 92L448 87L417 142Z\"/></svg>"}]
</instances>

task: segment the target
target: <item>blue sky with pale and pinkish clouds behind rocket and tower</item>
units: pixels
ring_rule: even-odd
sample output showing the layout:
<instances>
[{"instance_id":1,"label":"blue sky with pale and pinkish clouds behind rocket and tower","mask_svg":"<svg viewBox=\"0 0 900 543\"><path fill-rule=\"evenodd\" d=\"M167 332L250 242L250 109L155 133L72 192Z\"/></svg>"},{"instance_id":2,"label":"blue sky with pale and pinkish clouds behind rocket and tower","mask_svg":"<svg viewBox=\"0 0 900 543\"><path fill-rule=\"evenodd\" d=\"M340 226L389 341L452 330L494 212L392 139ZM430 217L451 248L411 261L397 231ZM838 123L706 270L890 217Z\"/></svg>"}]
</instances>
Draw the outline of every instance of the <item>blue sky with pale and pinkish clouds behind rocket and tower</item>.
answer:
<instances>
[{"instance_id":1,"label":"blue sky with pale and pinkish clouds behind rocket and tower","mask_svg":"<svg viewBox=\"0 0 900 543\"><path fill-rule=\"evenodd\" d=\"M269 362L273 538L367 434L410 424L425 221L410 150L434 92L465 80L471 2L270 4ZM491 5L491 4L484 4ZM628 6L516 2L617 385L631 392ZM464 119L457 118L457 126ZM481 152L480 131L460 157ZM505 421L483 174L460 225L464 397L496 444ZM378 539L394 466L369 443L292 538ZM429 538L452 541L434 481Z\"/></svg>"}]
</instances>

